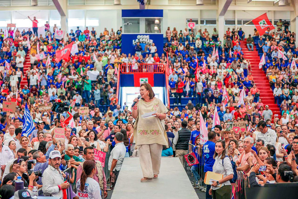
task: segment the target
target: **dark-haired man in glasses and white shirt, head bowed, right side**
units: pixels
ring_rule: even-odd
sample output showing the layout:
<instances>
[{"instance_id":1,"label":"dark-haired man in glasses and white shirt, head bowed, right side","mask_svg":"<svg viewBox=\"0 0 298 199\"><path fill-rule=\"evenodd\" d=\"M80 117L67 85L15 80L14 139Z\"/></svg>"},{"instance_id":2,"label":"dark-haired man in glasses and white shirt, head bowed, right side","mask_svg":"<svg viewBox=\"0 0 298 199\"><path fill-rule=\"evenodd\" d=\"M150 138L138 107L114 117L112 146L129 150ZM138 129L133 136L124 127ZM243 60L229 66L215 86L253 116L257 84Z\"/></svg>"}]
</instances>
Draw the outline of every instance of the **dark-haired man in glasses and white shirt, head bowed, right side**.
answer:
<instances>
[{"instance_id":1,"label":"dark-haired man in glasses and white shirt, head bowed, right side","mask_svg":"<svg viewBox=\"0 0 298 199\"><path fill-rule=\"evenodd\" d=\"M265 146L267 146L267 144L275 146L277 138L275 131L269 129L266 125L266 122L263 120L259 121L257 128L259 129L259 132L257 132L255 140L263 140Z\"/></svg>"}]
</instances>

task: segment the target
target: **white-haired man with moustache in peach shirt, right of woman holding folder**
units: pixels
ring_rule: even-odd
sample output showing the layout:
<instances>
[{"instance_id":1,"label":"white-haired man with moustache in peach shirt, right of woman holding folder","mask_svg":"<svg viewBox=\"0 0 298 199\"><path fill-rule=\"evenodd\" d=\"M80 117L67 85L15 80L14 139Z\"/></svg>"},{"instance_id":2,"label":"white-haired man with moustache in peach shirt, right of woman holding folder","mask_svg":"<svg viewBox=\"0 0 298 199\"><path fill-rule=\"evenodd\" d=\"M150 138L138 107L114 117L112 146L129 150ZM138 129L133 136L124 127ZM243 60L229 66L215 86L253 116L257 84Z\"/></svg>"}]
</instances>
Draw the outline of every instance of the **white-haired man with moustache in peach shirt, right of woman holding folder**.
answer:
<instances>
[{"instance_id":1,"label":"white-haired man with moustache in peach shirt, right of woman holding folder","mask_svg":"<svg viewBox=\"0 0 298 199\"><path fill-rule=\"evenodd\" d=\"M248 136L243 140L243 152L238 156L238 160L236 161L237 171L247 173L249 172L251 166L257 162L257 159L251 152L253 145L254 139L252 137Z\"/></svg>"}]
</instances>

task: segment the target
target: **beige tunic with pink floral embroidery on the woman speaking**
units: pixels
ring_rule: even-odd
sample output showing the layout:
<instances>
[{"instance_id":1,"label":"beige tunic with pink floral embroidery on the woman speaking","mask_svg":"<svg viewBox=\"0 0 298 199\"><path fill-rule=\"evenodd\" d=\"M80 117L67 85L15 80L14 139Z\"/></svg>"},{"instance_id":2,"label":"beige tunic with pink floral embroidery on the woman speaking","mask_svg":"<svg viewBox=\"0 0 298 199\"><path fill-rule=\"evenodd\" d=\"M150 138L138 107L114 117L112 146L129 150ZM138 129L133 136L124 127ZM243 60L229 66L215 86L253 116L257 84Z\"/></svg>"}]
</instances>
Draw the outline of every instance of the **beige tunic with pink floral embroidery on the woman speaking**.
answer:
<instances>
[{"instance_id":1,"label":"beige tunic with pink floral embroidery on the woman speaking","mask_svg":"<svg viewBox=\"0 0 298 199\"><path fill-rule=\"evenodd\" d=\"M142 144L162 144L168 146L167 132L164 129L164 120L156 117L142 118L141 115L156 111L157 113L167 113L167 107L158 98L153 98L151 102L140 100L138 103L138 117L134 125L134 141L136 147Z\"/></svg>"}]
</instances>

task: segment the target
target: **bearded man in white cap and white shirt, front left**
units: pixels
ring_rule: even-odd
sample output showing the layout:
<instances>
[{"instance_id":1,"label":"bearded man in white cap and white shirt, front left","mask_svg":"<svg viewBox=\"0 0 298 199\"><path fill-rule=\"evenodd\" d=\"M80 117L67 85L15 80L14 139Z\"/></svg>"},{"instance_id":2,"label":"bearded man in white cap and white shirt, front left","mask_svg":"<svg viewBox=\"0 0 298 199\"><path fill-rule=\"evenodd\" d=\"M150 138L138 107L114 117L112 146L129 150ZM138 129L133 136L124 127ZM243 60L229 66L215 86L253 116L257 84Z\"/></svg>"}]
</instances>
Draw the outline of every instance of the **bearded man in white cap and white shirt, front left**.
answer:
<instances>
[{"instance_id":1,"label":"bearded man in white cap and white shirt, front left","mask_svg":"<svg viewBox=\"0 0 298 199\"><path fill-rule=\"evenodd\" d=\"M63 197L62 189L69 188L69 183L64 182L65 174L60 170L61 155L57 150L49 154L50 165L44 170L42 177L42 191L45 196Z\"/></svg>"}]
</instances>

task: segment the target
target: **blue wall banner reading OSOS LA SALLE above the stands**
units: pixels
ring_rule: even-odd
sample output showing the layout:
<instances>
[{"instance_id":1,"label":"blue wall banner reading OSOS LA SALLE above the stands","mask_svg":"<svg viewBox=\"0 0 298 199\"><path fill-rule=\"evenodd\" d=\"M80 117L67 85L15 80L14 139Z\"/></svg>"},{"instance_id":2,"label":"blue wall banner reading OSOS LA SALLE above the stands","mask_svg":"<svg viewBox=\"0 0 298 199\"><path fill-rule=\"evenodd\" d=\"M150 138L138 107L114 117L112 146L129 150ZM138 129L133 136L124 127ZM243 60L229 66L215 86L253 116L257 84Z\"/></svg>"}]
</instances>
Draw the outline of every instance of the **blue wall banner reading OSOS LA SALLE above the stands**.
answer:
<instances>
[{"instance_id":1,"label":"blue wall banner reading OSOS LA SALLE above the stands","mask_svg":"<svg viewBox=\"0 0 298 199\"><path fill-rule=\"evenodd\" d=\"M134 53L136 53L134 47L137 42L140 42L143 56L145 56L147 51L148 53L150 52L148 48L152 43L155 44L159 56L163 53L163 34L122 34L122 53L126 55L131 53L131 55L134 55Z\"/></svg>"}]
</instances>

